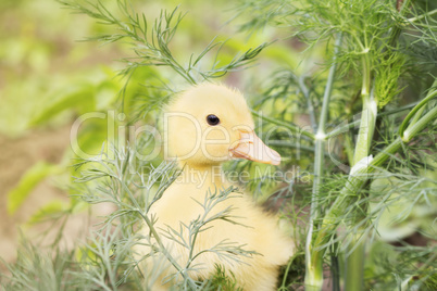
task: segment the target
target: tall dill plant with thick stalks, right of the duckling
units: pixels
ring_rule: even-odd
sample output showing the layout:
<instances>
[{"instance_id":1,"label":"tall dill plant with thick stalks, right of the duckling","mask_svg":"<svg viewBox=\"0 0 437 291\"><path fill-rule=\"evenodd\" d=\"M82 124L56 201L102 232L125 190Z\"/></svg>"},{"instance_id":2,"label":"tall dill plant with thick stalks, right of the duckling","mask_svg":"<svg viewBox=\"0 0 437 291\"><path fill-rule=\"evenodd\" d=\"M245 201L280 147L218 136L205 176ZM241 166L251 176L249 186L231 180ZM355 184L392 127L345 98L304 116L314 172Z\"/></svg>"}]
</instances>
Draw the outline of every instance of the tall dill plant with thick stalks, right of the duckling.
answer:
<instances>
[{"instance_id":1,"label":"tall dill plant with thick stalks, right of the duckling","mask_svg":"<svg viewBox=\"0 0 437 291\"><path fill-rule=\"evenodd\" d=\"M433 75L436 59L432 49L436 46L437 31L435 4L432 1L254 0L241 1L239 13L251 15L241 29L258 29L266 25L282 29L287 27L291 36L309 45L307 50L324 46L332 51L325 61L327 75L322 71L297 77L290 68L288 84L280 79L272 80L272 88L285 90L275 94L267 91L269 97L264 96L262 100L265 103L272 102L271 99L289 100L289 109L276 118L270 118L269 123L280 125L288 114L290 116L299 110L307 110L311 121L313 138L305 143L314 152L314 179L304 246L305 289L322 289L326 262L330 264L333 288L338 290L337 261L344 256L346 267L341 273L345 289L362 290L364 248L369 233L375 231L384 210L396 204L389 195L382 198L370 186L374 181L405 178L407 175L408 179L415 181L414 189L426 194L423 197L413 189L404 189L400 195L414 197L415 201L425 199L427 207L435 205L435 178L430 178L430 188L427 188L428 185L421 181L417 168L413 166L415 164L422 170L434 173L435 155L429 155L427 151L435 152L435 147L423 140L421 132L424 130L430 137L435 135L437 111L434 97L437 83ZM426 56L425 53L417 53L419 47L426 48ZM421 76L420 80L413 80L414 76ZM407 88L414 88L415 99L421 101L402 107L405 112L410 111L402 119L396 106L402 104L402 92ZM292 105L296 100L301 100L298 110L294 110L296 106ZM358 123L348 122L327 131L327 125L340 124L341 119L345 121L342 116L350 121L358 113L359 104L362 113ZM390 126L382 127L387 122L391 123ZM353 139L353 131L349 129L357 124L358 137ZM327 143L341 131L346 132L344 146L334 149L336 152L329 152L330 159L326 159ZM423 156L419 157L417 149L410 146L413 140L414 143L430 146L425 153L421 153ZM299 149L299 144L287 142L283 147ZM346 154L346 159L338 160L336 153ZM390 167L394 160L399 162L397 167ZM347 165L349 175L336 174L336 165ZM332 179L337 181L330 182ZM371 210L369 201L378 199L379 207ZM340 232L339 226L344 228ZM435 239L435 233L429 232L428 238ZM333 253L330 260L326 255L328 253ZM420 265L419 262L415 264ZM433 264L428 261L427 266ZM403 288L414 284L410 282L411 276L399 274L394 277L403 280ZM391 283L396 286L394 281Z\"/></svg>"}]
</instances>

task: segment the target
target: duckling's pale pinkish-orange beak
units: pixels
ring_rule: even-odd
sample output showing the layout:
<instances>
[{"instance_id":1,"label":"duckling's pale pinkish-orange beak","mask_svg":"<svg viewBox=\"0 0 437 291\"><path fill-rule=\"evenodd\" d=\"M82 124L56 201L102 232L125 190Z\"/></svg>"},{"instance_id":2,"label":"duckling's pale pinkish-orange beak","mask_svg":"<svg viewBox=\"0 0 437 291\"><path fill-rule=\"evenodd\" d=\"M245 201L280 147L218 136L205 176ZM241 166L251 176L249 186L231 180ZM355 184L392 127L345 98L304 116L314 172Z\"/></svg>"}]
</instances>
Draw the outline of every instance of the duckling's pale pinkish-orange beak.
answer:
<instances>
[{"instance_id":1,"label":"duckling's pale pinkish-orange beak","mask_svg":"<svg viewBox=\"0 0 437 291\"><path fill-rule=\"evenodd\" d=\"M240 131L240 139L229 149L230 156L271 165L280 164L280 155L265 146L253 131Z\"/></svg>"}]
</instances>

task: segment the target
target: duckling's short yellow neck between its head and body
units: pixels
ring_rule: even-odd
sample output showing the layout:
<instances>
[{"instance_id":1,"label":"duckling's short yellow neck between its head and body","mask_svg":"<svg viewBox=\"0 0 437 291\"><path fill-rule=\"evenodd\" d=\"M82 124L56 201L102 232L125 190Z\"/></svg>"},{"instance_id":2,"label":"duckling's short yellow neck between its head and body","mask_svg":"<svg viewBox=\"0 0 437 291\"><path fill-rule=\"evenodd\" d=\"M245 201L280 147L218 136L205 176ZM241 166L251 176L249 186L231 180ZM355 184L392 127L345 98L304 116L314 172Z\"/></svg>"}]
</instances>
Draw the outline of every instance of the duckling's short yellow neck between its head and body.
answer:
<instances>
[{"instance_id":1,"label":"duckling's short yellow neck between its head and body","mask_svg":"<svg viewBox=\"0 0 437 291\"><path fill-rule=\"evenodd\" d=\"M220 164L180 164L180 166L183 167L183 173L178 179L180 184L195 185L197 189L222 189L229 187L229 182L226 180Z\"/></svg>"}]
</instances>

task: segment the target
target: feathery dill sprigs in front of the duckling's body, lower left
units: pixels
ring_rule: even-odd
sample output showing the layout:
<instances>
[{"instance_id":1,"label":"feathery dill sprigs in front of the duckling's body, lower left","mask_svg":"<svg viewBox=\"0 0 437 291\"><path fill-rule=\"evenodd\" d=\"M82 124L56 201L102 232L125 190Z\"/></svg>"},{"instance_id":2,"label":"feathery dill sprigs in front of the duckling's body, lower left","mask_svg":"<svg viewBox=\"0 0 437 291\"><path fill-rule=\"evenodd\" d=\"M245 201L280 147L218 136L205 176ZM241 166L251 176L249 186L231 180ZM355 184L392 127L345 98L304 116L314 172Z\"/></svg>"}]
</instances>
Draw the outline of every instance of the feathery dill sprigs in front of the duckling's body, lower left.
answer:
<instances>
[{"instance_id":1,"label":"feathery dill sprigs in front of the duckling's body, lower left","mask_svg":"<svg viewBox=\"0 0 437 291\"><path fill-rule=\"evenodd\" d=\"M198 266L196 257L205 252L217 254L221 260L239 262L240 256L255 255L254 252L246 250L245 245L236 244L232 241L222 241L208 250L193 252L196 239L199 232L209 228L209 225L217 219L234 223L233 216L229 215L230 207L226 207L220 212L215 208L224 200L233 199L234 188L225 190L216 190L209 192L204 201L198 201L204 210L204 214L197 219L190 222L189 225L180 224L180 228L157 229L154 222L158 217L149 214L151 205L157 202L163 194L164 190L178 177L179 169L175 165L162 162L158 167L152 168L149 173L142 173L149 161L139 161L133 148L126 147L122 149L113 149L115 159L109 159L105 153L100 156L83 161L77 167L90 164L88 169L82 172L78 182L89 182L97 180L97 185L88 191L83 191L80 195L90 204L111 203L115 206L115 211L108 215L95 235L91 241L84 248L83 258L85 271L87 275L80 275L83 279L89 278L104 289L117 290L122 283L129 283L132 278L136 288L142 289L141 281L138 281L138 265L148 256L152 260L162 262L161 266L165 266L165 262L172 264L177 270L167 280L180 278L177 287L183 289L208 289L213 282L196 281L188 276L189 271L196 271ZM139 235L139 223L147 225L149 235ZM184 233L188 233L185 238ZM175 257L166 250L162 243L161 236L172 239L176 243L185 246L189 255L185 265L179 265ZM145 242L146 241L146 242ZM142 257L136 252L148 246L150 254ZM88 262L95 262L93 266L88 269ZM159 264L160 265L160 264ZM133 271L135 273L133 274ZM146 288L152 288L154 280L161 274L162 269L147 269L155 276L148 277L142 282ZM220 274L220 266L217 266ZM142 276L145 276L142 274ZM174 278L173 278L174 277ZM223 275L222 275L223 280ZM225 280L225 282L227 282Z\"/></svg>"}]
</instances>

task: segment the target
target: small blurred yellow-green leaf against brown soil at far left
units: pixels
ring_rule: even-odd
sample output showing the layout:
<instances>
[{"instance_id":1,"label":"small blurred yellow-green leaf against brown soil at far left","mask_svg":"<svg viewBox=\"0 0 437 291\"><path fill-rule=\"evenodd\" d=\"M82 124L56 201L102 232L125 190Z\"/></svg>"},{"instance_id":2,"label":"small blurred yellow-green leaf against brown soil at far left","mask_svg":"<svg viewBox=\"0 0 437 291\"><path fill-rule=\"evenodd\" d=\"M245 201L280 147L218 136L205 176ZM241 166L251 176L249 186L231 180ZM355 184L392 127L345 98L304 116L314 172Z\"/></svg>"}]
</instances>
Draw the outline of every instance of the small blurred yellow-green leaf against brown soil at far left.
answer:
<instances>
[{"instance_id":1,"label":"small blurred yellow-green leaf against brown soil at far left","mask_svg":"<svg viewBox=\"0 0 437 291\"><path fill-rule=\"evenodd\" d=\"M61 172L62 168L59 165L42 161L27 169L18 185L8 193L8 213L13 215L41 180Z\"/></svg>"}]
</instances>

